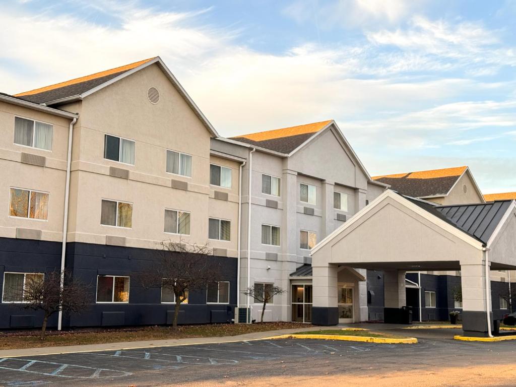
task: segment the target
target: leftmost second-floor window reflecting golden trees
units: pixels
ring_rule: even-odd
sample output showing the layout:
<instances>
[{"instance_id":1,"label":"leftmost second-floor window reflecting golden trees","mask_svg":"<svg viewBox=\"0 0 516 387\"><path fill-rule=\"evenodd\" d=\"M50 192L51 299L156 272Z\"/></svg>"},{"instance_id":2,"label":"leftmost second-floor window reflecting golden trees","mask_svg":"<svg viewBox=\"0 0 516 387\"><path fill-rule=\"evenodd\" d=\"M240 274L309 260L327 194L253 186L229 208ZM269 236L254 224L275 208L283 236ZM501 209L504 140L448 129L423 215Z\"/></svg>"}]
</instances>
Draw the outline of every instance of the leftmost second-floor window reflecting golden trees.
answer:
<instances>
[{"instance_id":1,"label":"leftmost second-floor window reflecting golden trees","mask_svg":"<svg viewBox=\"0 0 516 387\"><path fill-rule=\"evenodd\" d=\"M11 188L9 216L46 220L49 218L49 194L29 189Z\"/></svg>"}]
</instances>

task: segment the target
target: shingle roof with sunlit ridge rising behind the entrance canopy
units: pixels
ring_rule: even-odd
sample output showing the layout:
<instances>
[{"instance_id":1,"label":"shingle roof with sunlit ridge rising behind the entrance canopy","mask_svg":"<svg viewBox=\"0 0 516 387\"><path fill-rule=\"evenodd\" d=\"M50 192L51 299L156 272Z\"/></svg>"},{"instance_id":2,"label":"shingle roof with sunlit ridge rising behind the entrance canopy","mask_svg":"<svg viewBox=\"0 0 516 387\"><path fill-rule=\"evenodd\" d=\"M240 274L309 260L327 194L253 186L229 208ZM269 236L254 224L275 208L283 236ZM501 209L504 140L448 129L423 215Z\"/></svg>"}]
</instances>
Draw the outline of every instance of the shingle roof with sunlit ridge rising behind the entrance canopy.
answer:
<instances>
[{"instance_id":1,"label":"shingle roof with sunlit ridge rising behind the entrance canopy","mask_svg":"<svg viewBox=\"0 0 516 387\"><path fill-rule=\"evenodd\" d=\"M374 176L372 179L389 184L393 190L414 198L444 196L466 169L466 166L432 169L429 171Z\"/></svg>"}]
</instances>

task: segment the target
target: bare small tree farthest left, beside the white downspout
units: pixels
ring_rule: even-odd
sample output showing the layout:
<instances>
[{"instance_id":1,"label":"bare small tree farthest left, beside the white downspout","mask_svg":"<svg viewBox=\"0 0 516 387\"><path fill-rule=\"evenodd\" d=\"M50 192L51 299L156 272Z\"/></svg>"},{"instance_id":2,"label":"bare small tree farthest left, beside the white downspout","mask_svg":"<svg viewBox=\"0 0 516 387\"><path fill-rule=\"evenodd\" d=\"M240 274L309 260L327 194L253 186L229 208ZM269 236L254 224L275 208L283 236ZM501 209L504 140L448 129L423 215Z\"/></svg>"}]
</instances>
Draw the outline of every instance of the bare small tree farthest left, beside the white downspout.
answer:
<instances>
[{"instance_id":1,"label":"bare small tree farthest left, beside the white downspout","mask_svg":"<svg viewBox=\"0 0 516 387\"><path fill-rule=\"evenodd\" d=\"M61 275L64 284L61 289ZM50 316L62 311L80 313L91 303L88 285L72 277L68 271L52 271L41 275L26 275L23 286L10 289L11 296L22 301L19 307L34 311L43 311L41 324L41 340L45 340L46 325Z\"/></svg>"}]
</instances>

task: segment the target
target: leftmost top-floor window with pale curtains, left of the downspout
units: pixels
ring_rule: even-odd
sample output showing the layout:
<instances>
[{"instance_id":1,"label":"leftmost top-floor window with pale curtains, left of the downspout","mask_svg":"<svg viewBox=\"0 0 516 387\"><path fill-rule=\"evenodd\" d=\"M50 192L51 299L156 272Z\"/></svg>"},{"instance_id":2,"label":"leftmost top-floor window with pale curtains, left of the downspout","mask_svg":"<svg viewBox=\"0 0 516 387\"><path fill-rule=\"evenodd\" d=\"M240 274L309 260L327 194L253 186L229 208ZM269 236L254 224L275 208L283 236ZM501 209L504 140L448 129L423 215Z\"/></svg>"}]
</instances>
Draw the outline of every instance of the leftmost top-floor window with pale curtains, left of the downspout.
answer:
<instances>
[{"instance_id":1,"label":"leftmost top-floor window with pale curtains, left of the downspout","mask_svg":"<svg viewBox=\"0 0 516 387\"><path fill-rule=\"evenodd\" d=\"M51 124L14 117L14 143L25 147L52 150Z\"/></svg>"}]
</instances>

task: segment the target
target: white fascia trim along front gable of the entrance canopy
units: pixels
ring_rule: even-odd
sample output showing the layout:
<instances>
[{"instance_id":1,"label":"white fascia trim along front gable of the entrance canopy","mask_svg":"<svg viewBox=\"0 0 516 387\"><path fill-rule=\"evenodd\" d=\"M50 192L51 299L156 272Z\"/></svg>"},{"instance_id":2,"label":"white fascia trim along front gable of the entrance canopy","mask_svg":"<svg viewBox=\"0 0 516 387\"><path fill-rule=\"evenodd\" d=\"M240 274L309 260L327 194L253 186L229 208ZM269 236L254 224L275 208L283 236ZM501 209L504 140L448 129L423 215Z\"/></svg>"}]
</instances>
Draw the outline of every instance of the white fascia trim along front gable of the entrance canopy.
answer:
<instances>
[{"instance_id":1,"label":"white fascia trim along front gable of the entrance canopy","mask_svg":"<svg viewBox=\"0 0 516 387\"><path fill-rule=\"evenodd\" d=\"M326 244L328 244L338 234L340 234L341 232L346 230L348 227L351 227L351 225L353 225L355 222L360 220L360 218L362 216L367 214L369 211L372 211L372 209L375 208L386 197L389 197L389 198L397 201L401 205L404 205L405 207L411 209L413 212L422 216L424 219L432 222L433 224L436 224L438 227L440 227L444 231L447 231L448 233L458 237L459 239L461 239L465 243L475 247L476 249L479 249L479 250L483 249L483 245L479 240L477 240L477 239L473 238L472 236L466 234L465 232L457 229L453 225L445 222L444 220L438 218L437 216L430 214L428 211L425 211L423 208L415 205L414 203L410 202L408 199L405 199L401 195L398 195L398 193L395 193L392 190L388 189L388 190L384 191L380 196L378 196L375 200L373 200L371 203L369 203L364 208L362 208L358 213L354 214L351 217L351 219L346 221L343 225L341 225L341 227L337 228L326 238L322 239L317 245L315 245L315 247L310 252L310 255L313 255L319 249L321 249Z\"/></svg>"}]
</instances>

